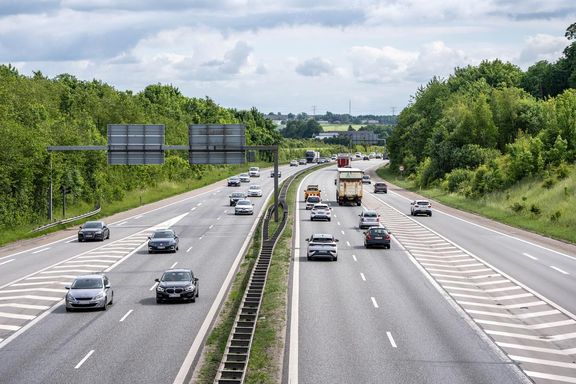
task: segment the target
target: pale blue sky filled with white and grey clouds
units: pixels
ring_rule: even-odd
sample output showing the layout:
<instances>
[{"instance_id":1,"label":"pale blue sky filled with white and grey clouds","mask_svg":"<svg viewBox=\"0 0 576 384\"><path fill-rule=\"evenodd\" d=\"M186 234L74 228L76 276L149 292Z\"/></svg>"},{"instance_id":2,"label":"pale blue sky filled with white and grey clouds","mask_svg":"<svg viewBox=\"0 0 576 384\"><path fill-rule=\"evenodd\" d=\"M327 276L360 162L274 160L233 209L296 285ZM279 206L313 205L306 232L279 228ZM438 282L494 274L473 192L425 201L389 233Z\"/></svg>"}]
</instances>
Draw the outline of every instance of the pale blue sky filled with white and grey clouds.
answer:
<instances>
[{"instance_id":1,"label":"pale blue sky filled with white and grey clouds","mask_svg":"<svg viewBox=\"0 0 576 384\"><path fill-rule=\"evenodd\" d=\"M555 61L574 0L0 0L0 63L268 112L392 114L499 58Z\"/></svg>"}]
</instances>

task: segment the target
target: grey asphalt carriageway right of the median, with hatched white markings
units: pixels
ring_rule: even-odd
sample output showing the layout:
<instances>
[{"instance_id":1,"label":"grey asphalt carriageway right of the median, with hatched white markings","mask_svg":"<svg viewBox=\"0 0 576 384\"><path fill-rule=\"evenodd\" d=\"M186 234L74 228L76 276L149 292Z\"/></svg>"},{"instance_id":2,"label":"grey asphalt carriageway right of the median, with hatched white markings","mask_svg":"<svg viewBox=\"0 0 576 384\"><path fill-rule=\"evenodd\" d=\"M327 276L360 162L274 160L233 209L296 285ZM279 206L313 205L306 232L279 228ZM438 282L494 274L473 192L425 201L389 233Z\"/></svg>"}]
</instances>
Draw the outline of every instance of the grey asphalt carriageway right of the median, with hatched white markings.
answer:
<instances>
[{"instance_id":1,"label":"grey asphalt carriageway right of the median, with hatched white markings","mask_svg":"<svg viewBox=\"0 0 576 384\"><path fill-rule=\"evenodd\" d=\"M319 184L333 218L298 203L286 382L576 382L573 247L440 206L412 217L406 191L366 185L363 207L339 207L334 178L298 192ZM362 209L393 231L390 250L364 249ZM339 238L337 262L306 261L314 232Z\"/></svg>"}]
</instances>

